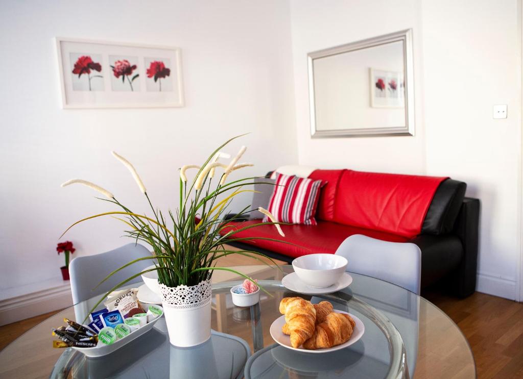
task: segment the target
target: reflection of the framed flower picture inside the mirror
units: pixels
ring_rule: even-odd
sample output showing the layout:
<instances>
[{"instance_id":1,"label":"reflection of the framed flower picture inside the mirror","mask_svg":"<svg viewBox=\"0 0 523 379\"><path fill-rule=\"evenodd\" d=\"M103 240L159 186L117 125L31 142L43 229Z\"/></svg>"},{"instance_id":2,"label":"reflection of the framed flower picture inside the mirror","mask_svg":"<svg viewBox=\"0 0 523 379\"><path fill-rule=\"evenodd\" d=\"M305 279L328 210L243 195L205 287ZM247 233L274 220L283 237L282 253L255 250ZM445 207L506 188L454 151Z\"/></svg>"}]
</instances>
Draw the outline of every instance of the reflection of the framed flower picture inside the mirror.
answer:
<instances>
[{"instance_id":1,"label":"reflection of the framed flower picture inside the mirror","mask_svg":"<svg viewBox=\"0 0 523 379\"><path fill-rule=\"evenodd\" d=\"M404 108L403 72L370 68L370 106L372 108Z\"/></svg>"}]
</instances>

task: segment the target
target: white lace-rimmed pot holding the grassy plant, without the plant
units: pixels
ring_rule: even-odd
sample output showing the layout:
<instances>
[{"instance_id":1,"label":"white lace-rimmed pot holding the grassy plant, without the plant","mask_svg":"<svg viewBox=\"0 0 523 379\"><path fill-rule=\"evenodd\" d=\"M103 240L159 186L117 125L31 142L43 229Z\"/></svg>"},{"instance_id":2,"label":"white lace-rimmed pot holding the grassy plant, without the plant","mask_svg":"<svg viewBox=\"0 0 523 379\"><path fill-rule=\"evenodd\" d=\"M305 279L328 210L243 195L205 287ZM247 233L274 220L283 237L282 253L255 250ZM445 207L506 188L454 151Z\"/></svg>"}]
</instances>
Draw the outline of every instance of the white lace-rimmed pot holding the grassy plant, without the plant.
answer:
<instances>
[{"instance_id":1,"label":"white lace-rimmed pot holding the grassy plant, without the plant","mask_svg":"<svg viewBox=\"0 0 523 379\"><path fill-rule=\"evenodd\" d=\"M191 287L159 287L172 345L196 346L211 338L211 280Z\"/></svg>"}]
</instances>

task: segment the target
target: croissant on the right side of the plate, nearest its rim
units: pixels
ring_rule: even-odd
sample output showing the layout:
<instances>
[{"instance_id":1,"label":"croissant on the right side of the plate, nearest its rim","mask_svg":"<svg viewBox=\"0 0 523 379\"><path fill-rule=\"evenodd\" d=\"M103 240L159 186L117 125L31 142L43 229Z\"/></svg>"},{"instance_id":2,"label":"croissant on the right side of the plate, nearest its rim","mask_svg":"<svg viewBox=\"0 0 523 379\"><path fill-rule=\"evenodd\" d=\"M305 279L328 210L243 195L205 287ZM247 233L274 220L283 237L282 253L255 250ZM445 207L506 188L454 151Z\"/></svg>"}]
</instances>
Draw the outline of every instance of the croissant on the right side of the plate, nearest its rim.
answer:
<instances>
[{"instance_id":1,"label":"croissant on the right side of the plate, nearest its rim","mask_svg":"<svg viewBox=\"0 0 523 379\"><path fill-rule=\"evenodd\" d=\"M356 323L345 313L329 313L325 321L316 325L314 334L303 342L303 348L314 350L331 348L347 342Z\"/></svg>"}]
</instances>

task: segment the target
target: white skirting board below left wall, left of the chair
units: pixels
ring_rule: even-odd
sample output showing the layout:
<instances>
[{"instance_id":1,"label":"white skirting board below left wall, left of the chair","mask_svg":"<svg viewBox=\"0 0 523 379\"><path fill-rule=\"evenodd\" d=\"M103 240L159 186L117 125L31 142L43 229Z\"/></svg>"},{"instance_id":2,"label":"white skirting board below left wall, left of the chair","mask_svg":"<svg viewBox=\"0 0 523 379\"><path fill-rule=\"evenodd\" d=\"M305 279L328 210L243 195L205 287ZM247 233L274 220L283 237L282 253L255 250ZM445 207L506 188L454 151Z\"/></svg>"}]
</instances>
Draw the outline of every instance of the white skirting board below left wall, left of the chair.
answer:
<instances>
[{"instance_id":1,"label":"white skirting board below left wall, left of the chair","mask_svg":"<svg viewBox=\"0 0 523 379\"><path fill-rule=\"evenodd\" d=\"M54 288L0 300L0 325L64 309L72 304L69 282Z\"/></svg>"}]
</instances>

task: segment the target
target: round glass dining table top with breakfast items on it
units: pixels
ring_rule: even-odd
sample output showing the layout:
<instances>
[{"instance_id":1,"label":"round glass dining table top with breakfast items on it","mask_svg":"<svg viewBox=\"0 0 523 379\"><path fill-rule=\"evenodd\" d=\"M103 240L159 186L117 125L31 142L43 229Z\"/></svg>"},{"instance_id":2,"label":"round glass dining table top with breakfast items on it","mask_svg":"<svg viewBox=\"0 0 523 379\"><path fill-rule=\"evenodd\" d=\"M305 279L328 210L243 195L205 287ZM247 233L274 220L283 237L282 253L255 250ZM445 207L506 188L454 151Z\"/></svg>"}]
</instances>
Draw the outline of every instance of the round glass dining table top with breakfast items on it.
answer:
<instances>
[{"instance_id":1,"label":"round glass dining table top with breakfast items on it","mask_svg":"<svg viewBox=\"0 0 523 379\"><path fill-rule=\"evenodd\" d=\"M211 340L195 348L175 348L161 319L153 330L110 356L89 359L81 352L51 347L51 328L74 319L70 307L49 317L0 351L0 377L23 378L474 378L467 340L451 319L422 297L391 283L353 274L345 290L320 297L365 324L365 334L346 349L325 354L292 351L269 334L278 305L294 293L281 285L292 266L238 266L258 279L262 293L252 307L236 307L230 289L238 278L213 274Z\"/></svg>"}]
</instances>

